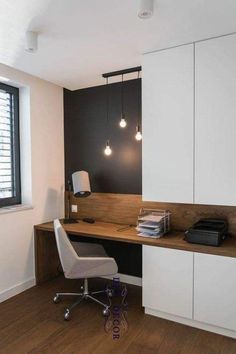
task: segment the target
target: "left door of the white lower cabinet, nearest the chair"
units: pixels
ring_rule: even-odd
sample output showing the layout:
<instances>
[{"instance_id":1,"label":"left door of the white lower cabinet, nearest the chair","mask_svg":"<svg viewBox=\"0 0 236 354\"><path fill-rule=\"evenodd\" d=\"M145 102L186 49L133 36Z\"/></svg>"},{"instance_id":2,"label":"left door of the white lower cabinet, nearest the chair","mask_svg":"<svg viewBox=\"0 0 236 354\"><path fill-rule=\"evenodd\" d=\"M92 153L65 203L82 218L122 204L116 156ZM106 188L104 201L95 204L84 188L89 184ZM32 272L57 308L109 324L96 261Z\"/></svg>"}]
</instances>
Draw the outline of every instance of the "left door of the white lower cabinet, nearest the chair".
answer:
<instances>
[{"instance_id":1,"label":"left door of the white lower cabinet, nearest the chair","mask_svg":"<svg viewBox=\"0 0 236 354\"><path fill-rule=\"evenodd\" d=\"M143 246L143 306L192 318L193 253Z\"/></svg>"}]
</instances>

